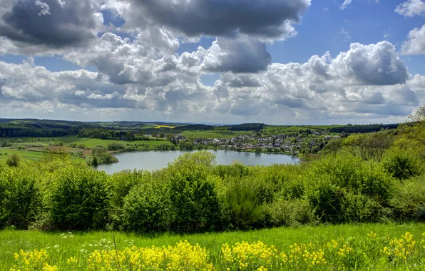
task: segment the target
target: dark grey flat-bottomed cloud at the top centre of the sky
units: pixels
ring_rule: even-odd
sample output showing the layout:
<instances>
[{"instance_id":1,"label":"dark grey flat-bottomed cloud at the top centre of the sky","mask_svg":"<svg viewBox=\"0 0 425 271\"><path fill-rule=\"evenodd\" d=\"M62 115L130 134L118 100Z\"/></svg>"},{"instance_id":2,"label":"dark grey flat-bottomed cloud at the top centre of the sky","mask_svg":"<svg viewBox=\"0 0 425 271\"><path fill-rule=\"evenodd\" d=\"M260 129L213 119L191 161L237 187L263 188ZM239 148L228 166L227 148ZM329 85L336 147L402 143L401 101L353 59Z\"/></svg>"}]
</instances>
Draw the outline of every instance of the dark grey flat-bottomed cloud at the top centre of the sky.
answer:
<instances>
[{"instance_id":1,"label":"dark grey flat-bottomed cloud at the top centre of the sky","mask_svg":"<svg viewBox=\"0 0 425 271\"><path fill-rule=\"evenodd\" d=\"M135 0L142 16L187 36L232 36L237 33L265 40L286 39L310 0ZM143 18L144 19L144 18ZM136 18L133 18L136 20Z\"/></svg>"}]
</instances>

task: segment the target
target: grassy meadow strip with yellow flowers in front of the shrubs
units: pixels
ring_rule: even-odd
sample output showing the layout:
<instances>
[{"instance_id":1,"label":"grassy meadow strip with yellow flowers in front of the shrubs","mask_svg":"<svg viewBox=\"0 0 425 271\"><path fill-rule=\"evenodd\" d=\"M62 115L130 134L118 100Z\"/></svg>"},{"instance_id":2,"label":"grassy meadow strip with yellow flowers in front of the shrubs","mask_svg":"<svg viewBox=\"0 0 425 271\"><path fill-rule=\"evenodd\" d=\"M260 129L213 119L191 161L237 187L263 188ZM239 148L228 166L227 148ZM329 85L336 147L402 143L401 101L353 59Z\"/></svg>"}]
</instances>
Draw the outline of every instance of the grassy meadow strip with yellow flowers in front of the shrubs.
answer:
<instances>
[{"instance_id":1,"label":"grassy meadow strip with yellow flowers in front of the shrubs","mask_svg":"<svg viewBox=\"0 0 425 271\"><path fill-rule=\"evenodd\" d=\"M116 251L111 232L3 230L0 270L424 270L424 232L421 223L156 237L116 232Z\"/></svg>"}]
</instances>

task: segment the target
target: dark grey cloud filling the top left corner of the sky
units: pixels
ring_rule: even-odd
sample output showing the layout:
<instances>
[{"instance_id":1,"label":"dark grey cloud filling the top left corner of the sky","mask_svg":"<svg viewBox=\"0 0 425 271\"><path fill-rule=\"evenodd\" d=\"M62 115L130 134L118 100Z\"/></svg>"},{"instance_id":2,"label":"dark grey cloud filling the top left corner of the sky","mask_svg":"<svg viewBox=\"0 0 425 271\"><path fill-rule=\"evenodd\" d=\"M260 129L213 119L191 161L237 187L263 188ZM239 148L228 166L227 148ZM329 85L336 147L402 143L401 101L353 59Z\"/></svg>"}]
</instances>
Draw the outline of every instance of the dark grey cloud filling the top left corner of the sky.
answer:
<instances>
[{"instance_id":1,"label":"dark grey cloud filling the top left corner of the sky","mask_svg":"<svg viewBox=\"0 0 425 271\"><path fill-rule=\"evenodd\" d=\"M18 47L41 45L51 48L80 46L96 38L103 16L89 0L11 2L0 19L0 36Z\"/></svg>"}]
</instances>

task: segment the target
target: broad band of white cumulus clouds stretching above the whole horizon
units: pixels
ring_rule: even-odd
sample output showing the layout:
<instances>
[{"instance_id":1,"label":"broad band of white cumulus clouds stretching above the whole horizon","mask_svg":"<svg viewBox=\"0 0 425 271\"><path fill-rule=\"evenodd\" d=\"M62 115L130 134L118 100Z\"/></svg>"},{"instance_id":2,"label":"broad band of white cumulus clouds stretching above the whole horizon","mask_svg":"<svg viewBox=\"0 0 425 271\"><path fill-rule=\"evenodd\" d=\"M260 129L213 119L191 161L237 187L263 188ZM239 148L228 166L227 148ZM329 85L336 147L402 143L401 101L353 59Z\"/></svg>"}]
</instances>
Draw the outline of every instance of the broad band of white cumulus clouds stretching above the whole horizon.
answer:
<instances>
[{"instance_id":1,"label":"broad band of white cumulus clouds stretching above the whole horizon","mask_svg":"<svg viewBox=\"0 0 425 271\"><path fill-rule=\"evenodd\" d=\"M81 66L96 66L96 72L51 72L31 58L22 64L0 61L0 113L13 105L43 108L55 116L72 109L73 114L96 112L105 118L128 119L143 111L170 121L319 123L332 118L402 118L425 98L425 80L409 76L386 41L352 44L334 58L324 53L304 63L267 62L260 65L261 71L237 73L242 64L230 66L220 58L222 48L218 53L211 49L221 46L220 37L208 49L179 56L173 53L178 43L165 36L163 44L169 46L159 48L161 53L149 39L106 33L95 46L64 56ZM209 55L221 69L212 87L201 81L215 63L209 62Z\"/></svg>"}]
</instances>

